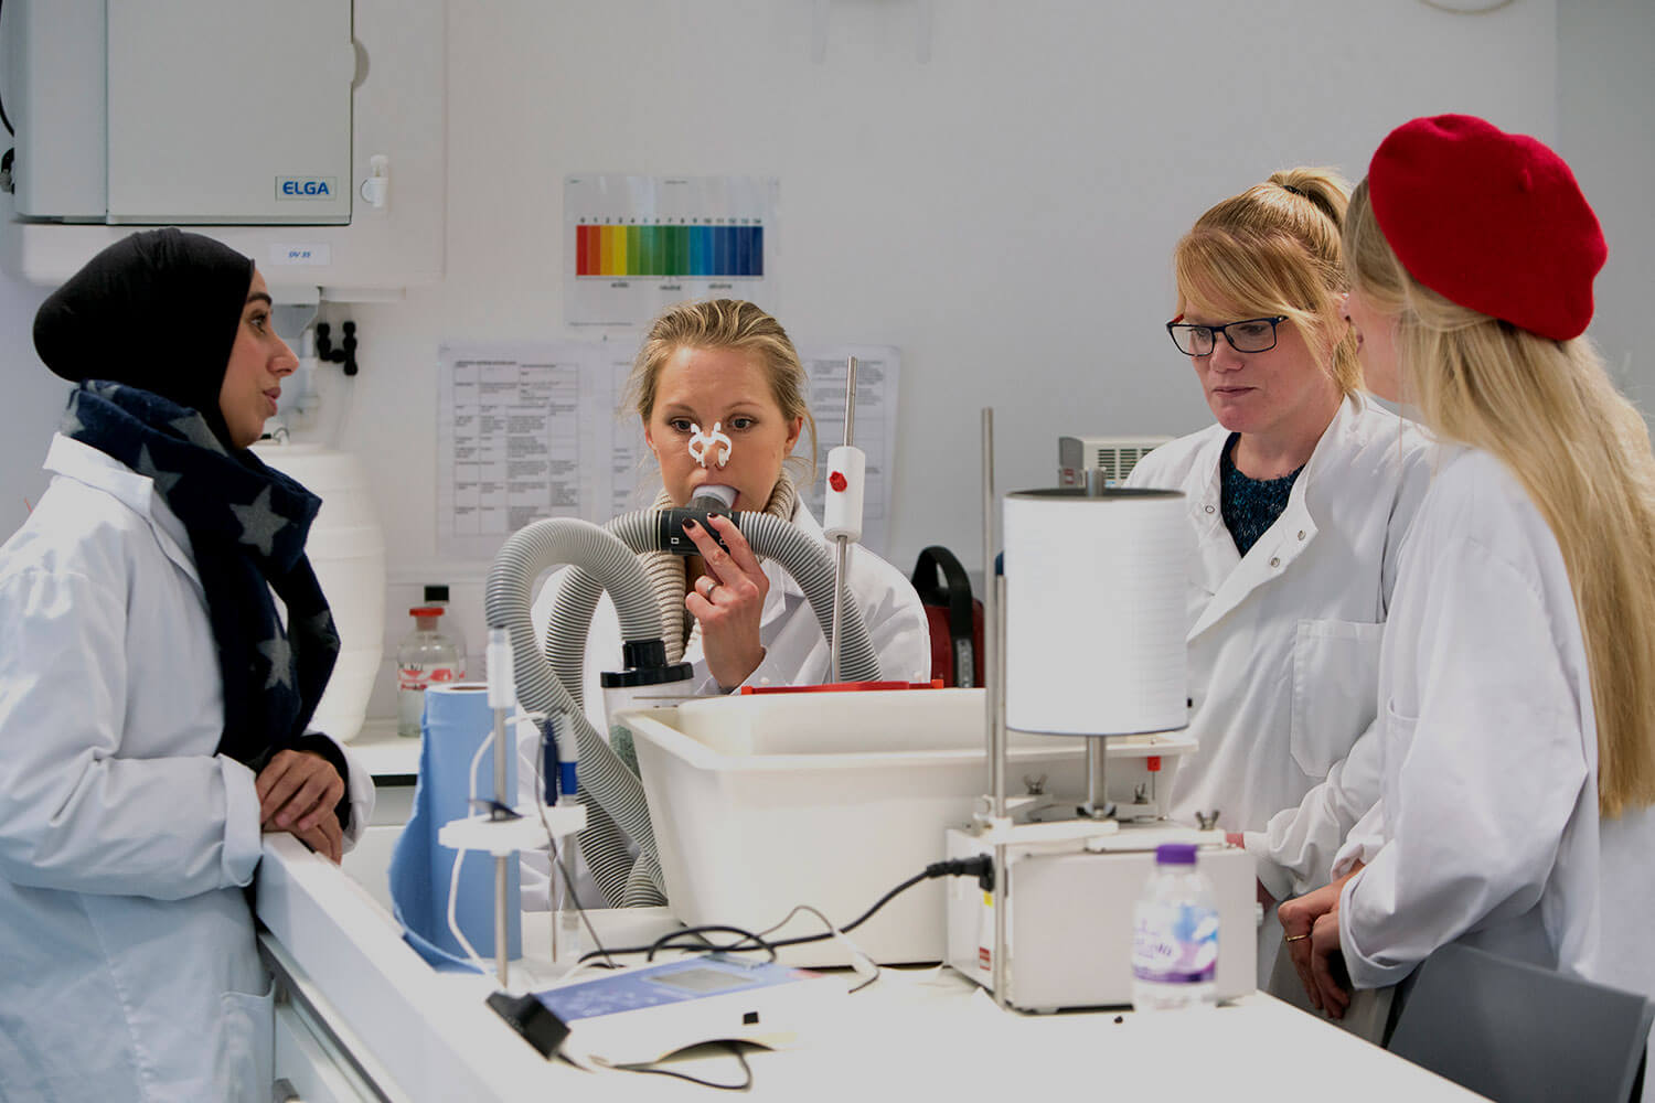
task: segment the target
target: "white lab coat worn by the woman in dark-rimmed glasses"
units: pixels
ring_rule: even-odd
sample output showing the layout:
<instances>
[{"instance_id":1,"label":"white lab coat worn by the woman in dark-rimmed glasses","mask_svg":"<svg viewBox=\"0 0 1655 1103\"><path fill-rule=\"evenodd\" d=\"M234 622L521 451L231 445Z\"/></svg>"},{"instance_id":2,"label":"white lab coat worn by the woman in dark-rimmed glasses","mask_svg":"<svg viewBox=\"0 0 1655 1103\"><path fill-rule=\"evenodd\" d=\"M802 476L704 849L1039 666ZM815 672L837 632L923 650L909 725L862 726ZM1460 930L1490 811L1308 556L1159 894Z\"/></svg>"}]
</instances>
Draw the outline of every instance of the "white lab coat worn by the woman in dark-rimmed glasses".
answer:
<instances>
[{"instance_id":1,"label":"white lab coat worn by the woman in dark-rimmed glasses","mask_svg":"<svg viewBox=\"0 0 1655 1103\"><path fill-rule=\"evenodd\" d=\"M1346 832L1379 797L1364 736L1397 547L1432 446L1370 399L1347 399L1288 508L1243 557L1220 509L1228 438L1213 425L1162 445L1127 485L1183 491L1197 532L1188 661L1200 747L1173 776L1172 815L1216 809L1226 830L1248 833L1258 876L1281 900L1327 883Z\"/></svg>"}]
</instances>

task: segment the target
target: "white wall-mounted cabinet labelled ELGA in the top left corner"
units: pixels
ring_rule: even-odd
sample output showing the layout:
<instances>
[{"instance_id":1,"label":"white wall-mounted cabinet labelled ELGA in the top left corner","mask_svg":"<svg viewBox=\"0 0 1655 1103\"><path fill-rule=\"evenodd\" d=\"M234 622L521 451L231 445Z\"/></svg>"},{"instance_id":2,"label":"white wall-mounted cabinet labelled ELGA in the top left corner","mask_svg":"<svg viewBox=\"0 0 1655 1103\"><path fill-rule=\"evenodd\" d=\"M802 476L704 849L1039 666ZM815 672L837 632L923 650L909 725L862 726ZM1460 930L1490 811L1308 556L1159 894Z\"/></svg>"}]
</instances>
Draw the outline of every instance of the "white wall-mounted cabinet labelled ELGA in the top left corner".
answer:
<instances>
[{"instance_id":1,"label":"white wall-mounted cabinet labelled ELGA in the top left corner","mask_svg":"<svg viewBox=\"0 0 1655 1103\"><path fill-rule=\"evenodd\" d=\"M349 0L13 7L18 215L351 220Z\"/></svg>"}]
</instances>

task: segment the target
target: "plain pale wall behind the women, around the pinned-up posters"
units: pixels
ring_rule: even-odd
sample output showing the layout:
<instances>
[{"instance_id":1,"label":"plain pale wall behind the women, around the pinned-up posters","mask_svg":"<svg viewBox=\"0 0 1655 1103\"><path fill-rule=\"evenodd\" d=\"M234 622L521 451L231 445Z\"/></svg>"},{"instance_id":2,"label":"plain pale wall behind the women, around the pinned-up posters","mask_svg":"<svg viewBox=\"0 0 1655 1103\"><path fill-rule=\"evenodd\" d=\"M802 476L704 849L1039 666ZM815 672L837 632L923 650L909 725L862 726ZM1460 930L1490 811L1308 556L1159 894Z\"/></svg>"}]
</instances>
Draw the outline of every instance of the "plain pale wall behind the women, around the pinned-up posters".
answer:
<instances>
[{"instance_id":1,"label":"plain pale wall behind the women, around the pinned-up posters","mask_svg":"<svg viewBox=\"0 0 1655 1103\"><path fill-rule=\"evenodd\" d=\"M1640 5L1594 7L1614 40L1630 17L1612 8ZM808 0L450 0L447 279L328 308L362 341L344 445L386 514L389 642L414 584L449 580L480 650L485 564L435 559L435 352L445 337L568 332L564 174L780 177L781 298L766 306L801 344L902 347L890 559L907 567L942 542L973 566L983 405L1003 489L1051 483L1059 433L1206 422L1160 324L1172 243L1208 205L1289 164L1360 177L1417 114L1559 141L1556 0L1488 15L1418 0L948 0L927 63L915 0L828 12L816 64ZM35 387L30 296L0 286ZM8 402L0 440L43 442L36 418ZM0 519L13 478L0 470Z\"/></svg>"}]
</instances>

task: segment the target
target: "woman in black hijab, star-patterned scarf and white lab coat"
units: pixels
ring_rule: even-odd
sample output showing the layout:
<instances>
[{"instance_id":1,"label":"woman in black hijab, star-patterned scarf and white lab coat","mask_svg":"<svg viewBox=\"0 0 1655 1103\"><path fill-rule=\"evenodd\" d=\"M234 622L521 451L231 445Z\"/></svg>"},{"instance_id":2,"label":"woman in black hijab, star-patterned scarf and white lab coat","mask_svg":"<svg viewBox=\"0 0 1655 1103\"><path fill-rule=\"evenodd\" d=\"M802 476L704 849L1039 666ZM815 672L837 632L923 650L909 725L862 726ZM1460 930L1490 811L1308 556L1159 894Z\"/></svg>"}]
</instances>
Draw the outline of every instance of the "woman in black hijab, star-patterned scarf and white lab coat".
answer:
<instances>
[{"instance_id":1,"label":"woman in black hijab, star-patterned scarf and white lab coat","mask_svg":"<svg viewBox=\"0 0 1655 1103\"><path fill-rule=\"evenodd\" d=\"M5 1098L268 1100L260 837L338 862L372 809L308 728L339 652L321 501L247 450L298 365L270 308L253 261L156 230L35 318L78 385L0 547Z\"/></svg>"}]
</instances>

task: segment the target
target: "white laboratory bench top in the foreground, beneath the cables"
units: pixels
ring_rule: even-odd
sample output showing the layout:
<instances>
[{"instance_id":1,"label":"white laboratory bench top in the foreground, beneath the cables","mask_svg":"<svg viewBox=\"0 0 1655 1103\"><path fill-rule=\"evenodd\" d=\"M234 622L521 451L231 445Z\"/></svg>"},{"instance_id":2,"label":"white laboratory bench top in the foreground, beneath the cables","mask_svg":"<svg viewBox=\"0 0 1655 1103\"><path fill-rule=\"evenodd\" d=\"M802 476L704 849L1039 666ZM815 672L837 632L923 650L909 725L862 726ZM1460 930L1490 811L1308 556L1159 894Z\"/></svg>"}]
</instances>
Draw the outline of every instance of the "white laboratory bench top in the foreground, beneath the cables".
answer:
<instances>
[{"instance_id":1,"label":"white laboratory bench top in the foreground, beneath the cables","mask_svg":"<svg viewBox=\"0 0 1655 1103\"><path fill-rule=\"evenodd\" d=\"M359 885L291 837L266 837L258 914L266 946L386 1098L541 1100L554 1091L626 1101L695 1090L667 1077L546 1062L483 1004L493 977L430 969ZM599 914L606 941L662 921L659 913ZM533 944L546 918L525 919ZM1263 994L1182 1014L1021 1015L1001 1012L948 969L885 969L804 1045L750 1053L748 1062L753 1093L773 1100L842 1101L892 1090L983 1100L1053 1088L1213 1101L1326 1090L1341 1098L1480 1098ZM725 1055L677 1067L740 1080Z\"/></svg>"}]
</instances>

